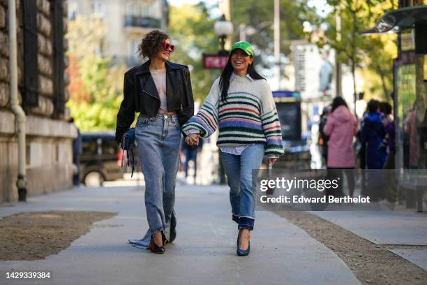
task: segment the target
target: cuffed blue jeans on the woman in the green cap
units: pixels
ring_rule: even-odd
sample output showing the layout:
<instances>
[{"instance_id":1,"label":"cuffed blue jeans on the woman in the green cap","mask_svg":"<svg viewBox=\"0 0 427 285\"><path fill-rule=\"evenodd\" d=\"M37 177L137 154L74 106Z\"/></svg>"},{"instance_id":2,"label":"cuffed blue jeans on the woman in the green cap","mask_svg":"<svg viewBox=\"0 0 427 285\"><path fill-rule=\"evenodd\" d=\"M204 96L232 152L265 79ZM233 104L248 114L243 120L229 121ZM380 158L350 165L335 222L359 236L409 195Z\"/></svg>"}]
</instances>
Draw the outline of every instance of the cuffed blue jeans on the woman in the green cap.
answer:
<instances>
[{"instance_id":1,"label":"cuffed blue jeans on the woman in the green cap","mask_svg":"<svg viewBox=\"0 0 427 285\"><path fill-rule=\"evenodd\" d=\"M253 230L255 221L255 182L262 158L264 145L250 145L241 155L220 152L227 183L230 187L232 219L239 228ZM255 177L253 177L255 175Z\"/></svg>"}]
</instances>

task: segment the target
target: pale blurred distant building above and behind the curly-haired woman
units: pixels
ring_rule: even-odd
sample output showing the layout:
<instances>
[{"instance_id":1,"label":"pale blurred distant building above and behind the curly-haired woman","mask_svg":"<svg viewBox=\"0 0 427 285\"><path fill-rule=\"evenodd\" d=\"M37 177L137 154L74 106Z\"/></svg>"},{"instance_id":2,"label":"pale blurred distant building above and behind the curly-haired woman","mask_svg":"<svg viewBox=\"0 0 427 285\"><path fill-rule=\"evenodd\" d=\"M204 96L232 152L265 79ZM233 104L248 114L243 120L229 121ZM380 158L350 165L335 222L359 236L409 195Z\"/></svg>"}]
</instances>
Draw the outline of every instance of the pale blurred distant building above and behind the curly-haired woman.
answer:
<instances>
[{"instance_id":1,"label":"pale blurred distant building above and behind the curly-haired woman","mask_svg":"<svg viewBox=\"0 0 427 285\"><path fill-rule=\"evenodd\" d=\"M96 17L109 31L105 50L114 64L139 65L136 51L142 37L153 29L167 31L166 0L68 0L68 17Z\"/></svg>"}]
</instances>

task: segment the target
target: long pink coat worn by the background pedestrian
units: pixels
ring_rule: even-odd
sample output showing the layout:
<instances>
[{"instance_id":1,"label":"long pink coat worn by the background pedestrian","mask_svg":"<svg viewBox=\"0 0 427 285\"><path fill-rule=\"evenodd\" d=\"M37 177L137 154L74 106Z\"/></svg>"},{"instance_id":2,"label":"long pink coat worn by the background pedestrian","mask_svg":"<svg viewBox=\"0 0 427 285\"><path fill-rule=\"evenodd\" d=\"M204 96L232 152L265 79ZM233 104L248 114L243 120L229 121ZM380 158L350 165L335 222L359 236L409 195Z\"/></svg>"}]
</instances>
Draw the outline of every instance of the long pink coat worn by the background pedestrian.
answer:
<instances>
[{"instance_id":1,"label":"long pink coat worn by the background pedestrian","mask_svg":"<svg viewBox=\"0 0 427 285\"><path fill-rule=\"evenodd\" d=\"M354 168L353 137L357 134L357 119L344 105L329 115L323 132L329 136L329 168Z\"/></svg>"}]
</instances>

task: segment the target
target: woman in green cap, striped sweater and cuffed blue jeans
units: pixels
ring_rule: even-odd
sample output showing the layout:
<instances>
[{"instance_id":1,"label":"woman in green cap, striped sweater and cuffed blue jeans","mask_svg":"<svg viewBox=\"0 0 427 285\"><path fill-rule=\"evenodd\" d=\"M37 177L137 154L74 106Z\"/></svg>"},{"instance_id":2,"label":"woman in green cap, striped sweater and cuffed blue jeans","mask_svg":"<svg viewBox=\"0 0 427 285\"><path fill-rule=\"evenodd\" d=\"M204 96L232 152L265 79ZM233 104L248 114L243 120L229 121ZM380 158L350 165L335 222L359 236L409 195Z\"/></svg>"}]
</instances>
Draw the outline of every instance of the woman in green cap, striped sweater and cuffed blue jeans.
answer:
<instances>
[{"instance_id":1,"label":"woman in green cap, striped sweater and cuffed blue jeans","mask_svg":"<svg viewBox=\"0 0 427 285\"><path fill-rule=\"evenodd\" d=\"M238 224L237 255L250 251L250 231L255 221L253 170L264 155L274 163L283 154L280 122L267 80L255 71L253 48L246 41L234 43L220 78L197 115L183 124L188 145L197 145L218 129L232 220Z\"/></svg>"}]
</instances>

